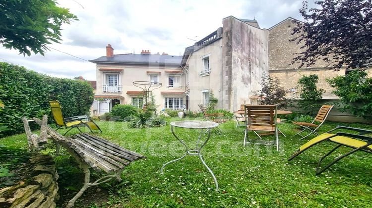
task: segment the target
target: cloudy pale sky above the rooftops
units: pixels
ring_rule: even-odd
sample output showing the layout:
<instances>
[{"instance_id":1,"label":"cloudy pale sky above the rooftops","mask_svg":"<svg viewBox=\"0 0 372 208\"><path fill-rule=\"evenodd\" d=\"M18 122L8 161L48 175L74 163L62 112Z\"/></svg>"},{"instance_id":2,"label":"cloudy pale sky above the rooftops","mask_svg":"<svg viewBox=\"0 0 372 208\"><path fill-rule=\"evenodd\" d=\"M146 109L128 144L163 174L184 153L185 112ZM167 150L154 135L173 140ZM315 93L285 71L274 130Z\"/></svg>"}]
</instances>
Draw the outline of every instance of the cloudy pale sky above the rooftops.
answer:
<instances>
[{"instance_id":1,"label":"cloudy pale sky above the rooftops","mask_svg":"<svg viewBox=\"0 0 372 208\"><path fill-rule=\"evenodd\" d=\"M230 15L255 18L261 28L269 28L289 16L302 20L302 1L58 0L60 7L69 8L79 18L63 25L61 44L50 45L53 49L45 56L30 57L1 46L0 61L55 77L81 75L96 80L95 64L86 60L106 55L105 46L109 43L114 54L140 53L144 49L182 55L185 47L194 44L190 39L202 39L221 27L222 19Z\"/></svg>"}]
</instances>

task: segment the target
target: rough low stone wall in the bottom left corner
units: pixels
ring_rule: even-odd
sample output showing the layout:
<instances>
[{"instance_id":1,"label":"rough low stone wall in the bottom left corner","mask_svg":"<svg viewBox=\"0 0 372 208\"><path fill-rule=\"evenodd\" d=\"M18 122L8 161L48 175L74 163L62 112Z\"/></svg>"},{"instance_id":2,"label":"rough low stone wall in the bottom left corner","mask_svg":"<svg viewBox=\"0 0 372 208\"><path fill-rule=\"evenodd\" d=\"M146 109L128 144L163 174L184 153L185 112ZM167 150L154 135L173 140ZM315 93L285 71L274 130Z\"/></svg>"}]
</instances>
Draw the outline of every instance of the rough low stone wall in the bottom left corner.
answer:
<instances>
[{"instance_id":1,"label":"rough low stone wall in the bottom left corner","mask_svg":"<svg viewBox=\"0 0 372 208\"><path fill-rule=\"evenodd\" d=\"M51 156L33 153L26 172L30 178L0 189L1 208L55 208L58 174Z\"/></svg>"}]
</instances>

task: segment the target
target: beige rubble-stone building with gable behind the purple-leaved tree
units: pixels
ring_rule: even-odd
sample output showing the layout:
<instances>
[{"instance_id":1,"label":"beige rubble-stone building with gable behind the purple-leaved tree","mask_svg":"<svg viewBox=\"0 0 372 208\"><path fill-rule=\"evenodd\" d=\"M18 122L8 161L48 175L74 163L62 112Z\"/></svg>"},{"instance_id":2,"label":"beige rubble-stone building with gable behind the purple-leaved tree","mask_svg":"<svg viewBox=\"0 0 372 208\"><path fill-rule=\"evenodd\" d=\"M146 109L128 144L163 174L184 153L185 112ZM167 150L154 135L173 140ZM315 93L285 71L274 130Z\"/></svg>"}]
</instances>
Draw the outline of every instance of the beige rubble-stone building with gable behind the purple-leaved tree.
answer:
<instances>
[{"instance_id":1,"label":"beige rubble-stone building with gable behind the purple-leaved tree","mask_svg":"<svg viewBox=\"0 0 372 208\"><path fill-rule=\"evenodd\" d=\"M297 55L295 53L303 52L301 49L302 44L296 44L296 41L290 41L295 36L292 35L292 30L295 27L297 19L288 17L287 19L279 22L278 24L269 28L269 74L276 76L280 80L280 84L285 90L295 92L297 81L303 75L316 74L319 76L317 84L318 88L325 90L323 97L336 98L332 95L332 88L326 82L326 79L331 79L336 76L345 75L348 71L341 69L334 71L329 69L329 63L318 60L314 65L307 68L298 68L299 63L292 64L292 60ZM371 71L371 69L369 69ZM370 73L371 74L371 73Z\"/></svg>"}]
</instances>

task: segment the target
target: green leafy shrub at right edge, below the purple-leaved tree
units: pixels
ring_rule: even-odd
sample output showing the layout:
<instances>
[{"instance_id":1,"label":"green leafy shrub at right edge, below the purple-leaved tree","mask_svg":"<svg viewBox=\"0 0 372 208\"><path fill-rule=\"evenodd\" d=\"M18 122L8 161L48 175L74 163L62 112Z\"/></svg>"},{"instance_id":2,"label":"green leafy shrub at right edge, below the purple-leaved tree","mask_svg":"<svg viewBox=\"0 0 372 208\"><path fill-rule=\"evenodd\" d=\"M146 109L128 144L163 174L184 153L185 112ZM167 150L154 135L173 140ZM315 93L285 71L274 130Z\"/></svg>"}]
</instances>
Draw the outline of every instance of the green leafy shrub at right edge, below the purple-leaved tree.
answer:
<instances>
[{"instance_id":1,"label":"green leafy shrub at right edge, below the purple-leaved tree","mask_svg":"<svg viewBox=\"0 0 372 208\"><path fill-rule=\"evenodd\" d=\"M333 93L340 97L342 112L348 111L356 116L371 118L372 78L367 78L365 71L354 70L327 82L335 88Z\"/></svg>"}]
</instances>

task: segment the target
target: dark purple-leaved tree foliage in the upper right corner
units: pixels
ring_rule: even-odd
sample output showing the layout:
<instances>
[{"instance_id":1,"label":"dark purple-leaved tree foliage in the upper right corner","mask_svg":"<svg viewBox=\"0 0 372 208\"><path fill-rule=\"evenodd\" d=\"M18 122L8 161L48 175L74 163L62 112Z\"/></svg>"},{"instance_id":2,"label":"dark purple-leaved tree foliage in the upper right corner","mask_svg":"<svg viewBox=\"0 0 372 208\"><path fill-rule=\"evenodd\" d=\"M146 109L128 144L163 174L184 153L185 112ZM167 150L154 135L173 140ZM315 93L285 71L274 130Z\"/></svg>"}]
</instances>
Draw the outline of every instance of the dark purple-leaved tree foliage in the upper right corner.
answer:
<instances>
[{"instance_id":1,"label":"dark purple-leaved tree foliage in the upper right corner","mask_svg":"<svg viewBox=\"0 0 372 208\"><path fill-rule=\"evenodd\" d=\"M320 8L308 10L303 2L300 13L305 22L295 22L292 41L304 43L292 63L309 67L324 60L333 69L365 68L372 58L372 4L369 0L319 0Z\"/></svg>"}]
</instances>

